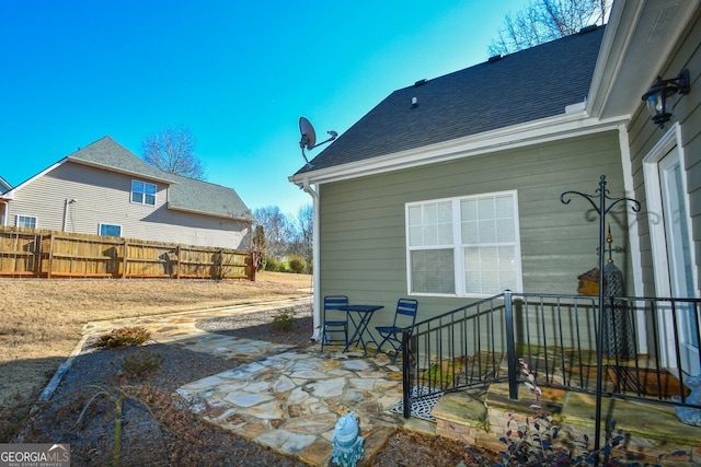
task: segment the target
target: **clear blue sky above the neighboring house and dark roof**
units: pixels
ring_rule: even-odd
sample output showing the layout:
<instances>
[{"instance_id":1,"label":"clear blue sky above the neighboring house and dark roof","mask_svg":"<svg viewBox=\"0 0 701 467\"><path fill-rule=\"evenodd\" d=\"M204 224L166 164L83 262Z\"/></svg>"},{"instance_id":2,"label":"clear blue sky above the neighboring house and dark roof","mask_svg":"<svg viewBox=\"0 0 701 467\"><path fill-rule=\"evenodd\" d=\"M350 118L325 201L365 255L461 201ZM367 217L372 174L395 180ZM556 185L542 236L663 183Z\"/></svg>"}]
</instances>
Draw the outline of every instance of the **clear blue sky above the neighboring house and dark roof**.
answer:
<instances>
[{"instance_id":1,"label":"clear blue sky above the neighboring house and dark roof","mask_svg":"<svg viewBox=\"0 0 701 467\"><path fill-rule=\"evenodd\" d=\"M527 3L4 0L0 176L16 186L104 136L141 155L184 126L208 182L295 215L311 202L287 179L300 116L319 141L343 133L392 91L486 60Z\"/></svg>"}]
</instances>

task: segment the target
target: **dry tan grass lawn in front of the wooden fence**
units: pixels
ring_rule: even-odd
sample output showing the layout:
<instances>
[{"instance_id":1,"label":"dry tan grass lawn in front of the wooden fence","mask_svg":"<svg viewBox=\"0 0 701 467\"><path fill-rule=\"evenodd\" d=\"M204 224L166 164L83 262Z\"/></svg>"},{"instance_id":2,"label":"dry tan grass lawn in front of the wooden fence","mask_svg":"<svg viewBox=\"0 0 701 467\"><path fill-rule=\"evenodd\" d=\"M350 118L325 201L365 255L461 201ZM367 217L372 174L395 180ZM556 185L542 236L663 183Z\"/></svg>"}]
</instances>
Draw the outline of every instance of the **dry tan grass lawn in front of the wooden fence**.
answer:
<instances>
[{"instance_id":1,"label":"dry tan grass lawn in front of the wooden fence","mask_svg":"<svg viewBox=\"0 0 701 467\"><path fill-rule=\"evenodd\" d=\"M80 341L114 319L304 296L311 277L261 272L256 282L0 279L0 418L34 400Z\"/></svg>"}]
</instances>

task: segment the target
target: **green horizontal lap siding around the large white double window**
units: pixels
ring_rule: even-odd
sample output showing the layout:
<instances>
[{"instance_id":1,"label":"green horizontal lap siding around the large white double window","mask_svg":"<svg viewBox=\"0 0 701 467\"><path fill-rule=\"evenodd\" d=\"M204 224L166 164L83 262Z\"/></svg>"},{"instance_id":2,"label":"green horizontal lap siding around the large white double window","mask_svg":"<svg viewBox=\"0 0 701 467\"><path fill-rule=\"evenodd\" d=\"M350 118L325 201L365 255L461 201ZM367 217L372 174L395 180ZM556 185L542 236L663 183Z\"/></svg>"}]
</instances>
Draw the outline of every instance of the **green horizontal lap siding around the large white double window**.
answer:
<instances>
[{"instance_id":1,"label":"green horizontal lap siding around the large white double window","mask_svg":"<svg viewBox=\"0 0 701 467\"><path fill-rule=\"evenodd\" d=\"M344 293L352 302L393 310L407 294L405 203L513 189L519 200L525 290L576 293L577 276L597 265L598 218L586 200L563 205L560 195L593 195L606 175L611 196L624 196L618 141L618 133L609 131L321 185L322 295ZM614 245L627 246L625 213L619 210L610 218ZM614 260L629 269L623 255ZM469 302L418 300L420 316Z\"/></svg>"}]
</instances>

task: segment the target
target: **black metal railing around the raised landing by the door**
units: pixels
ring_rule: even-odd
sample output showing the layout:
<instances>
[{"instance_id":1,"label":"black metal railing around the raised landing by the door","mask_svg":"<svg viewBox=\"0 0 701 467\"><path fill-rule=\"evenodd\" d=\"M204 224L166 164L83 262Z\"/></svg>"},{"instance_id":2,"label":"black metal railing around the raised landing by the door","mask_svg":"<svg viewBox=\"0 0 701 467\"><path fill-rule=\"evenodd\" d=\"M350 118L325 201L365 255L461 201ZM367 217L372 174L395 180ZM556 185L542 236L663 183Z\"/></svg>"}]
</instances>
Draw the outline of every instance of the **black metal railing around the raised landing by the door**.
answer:
<instances>
[{"instance_id":1,"label":"black metal railing around the raised landing by the door","mask_svg":"<svg viewBox=\"0 0 701 467\"><path fill-rule=\"evenodd\" d=\"M701 369L701 299L597 305L596 296L506 291L417 323L403 332L404 417L423 397L494 383L508 382L516 398L519 359L541 386L701 408L685 386Z\"/></svg>"}]
</instances>

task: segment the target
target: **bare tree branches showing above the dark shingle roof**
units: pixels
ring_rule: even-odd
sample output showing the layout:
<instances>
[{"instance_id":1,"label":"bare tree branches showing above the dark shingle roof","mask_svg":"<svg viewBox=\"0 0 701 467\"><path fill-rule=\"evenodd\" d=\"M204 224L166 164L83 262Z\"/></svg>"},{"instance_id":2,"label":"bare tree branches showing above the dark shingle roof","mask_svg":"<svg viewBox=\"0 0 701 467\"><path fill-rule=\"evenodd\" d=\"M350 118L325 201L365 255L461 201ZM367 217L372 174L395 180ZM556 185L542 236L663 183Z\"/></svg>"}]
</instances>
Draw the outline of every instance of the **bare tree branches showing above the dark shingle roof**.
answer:
<instances>
[{"instance_id":1,"label":"bare tree branches showing above the dark shingle roof","mask_svg":"<svg viewBox=\"0 0 701 467\"><path fill-rule=\"evenodd\" d=\"M610 0L531 0L516 14L506 15L504 28L492 40L489 52L513 54L604 24L609 9Z\"/></svg>"}]
</instances>

